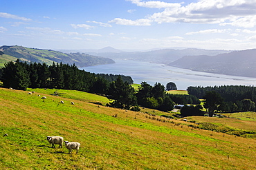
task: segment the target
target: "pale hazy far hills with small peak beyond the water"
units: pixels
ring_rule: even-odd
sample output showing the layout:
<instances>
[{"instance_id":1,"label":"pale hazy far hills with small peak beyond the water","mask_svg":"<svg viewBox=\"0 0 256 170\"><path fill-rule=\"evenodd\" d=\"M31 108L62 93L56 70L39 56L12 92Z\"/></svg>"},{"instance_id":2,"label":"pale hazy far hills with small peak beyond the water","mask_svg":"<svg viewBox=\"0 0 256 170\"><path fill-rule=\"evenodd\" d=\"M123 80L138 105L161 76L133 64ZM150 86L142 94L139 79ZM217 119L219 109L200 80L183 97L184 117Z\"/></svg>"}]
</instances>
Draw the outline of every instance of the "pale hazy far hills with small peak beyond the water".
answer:
<instances>
[{"instance_id":1,"label":"pale hazy far hills with small peak beyond the water","mask_svg":"<svg viewBox=\"0 0 256 170\"><path fill-rule=\"evenodd\" d=\"M105 48L104 50L100 49L98 51L91 50L82 50L86 54L104 56L110 59L129 59L135 61L145 61L152 63L163 63L168 64L178 59L181 59L183 56L198 56L198 55L209 55L214 56L217 54L223 54L230 51L226 50L204 50L204 49L196 49L196 48L188 48L183 50L175 50L175 49L161 49L161 50L151 50L148 52L111 52L110 50L107 52ZM112 49L113 51L113 49Z\"/></svg>"}]
</instances>

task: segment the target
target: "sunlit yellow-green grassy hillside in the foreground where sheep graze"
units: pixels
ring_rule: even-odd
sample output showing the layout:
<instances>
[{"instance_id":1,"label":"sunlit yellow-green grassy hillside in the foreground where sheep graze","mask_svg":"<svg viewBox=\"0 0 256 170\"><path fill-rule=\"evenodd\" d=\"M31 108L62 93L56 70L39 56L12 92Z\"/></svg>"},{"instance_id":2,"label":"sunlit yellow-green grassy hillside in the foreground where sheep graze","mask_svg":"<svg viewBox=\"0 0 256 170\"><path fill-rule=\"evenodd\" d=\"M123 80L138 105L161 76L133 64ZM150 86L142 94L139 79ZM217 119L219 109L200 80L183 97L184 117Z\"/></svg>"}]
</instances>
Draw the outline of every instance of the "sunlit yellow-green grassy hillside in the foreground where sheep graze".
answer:
<instances>
[{"instance_id":1,"label":"sunlit yellow-green grassy hillside in the foreground where sheep graze","mask_svg":"<svg viewBox=\"0 0 256 170\"><path fill-rule=\"evenodd\" d=\"M0 88L0 169L256 169L256 140L105 107L93 94L33 90ZM46 136L80 142L80 151L52 149Z\"/></svg>"}]
</instances>

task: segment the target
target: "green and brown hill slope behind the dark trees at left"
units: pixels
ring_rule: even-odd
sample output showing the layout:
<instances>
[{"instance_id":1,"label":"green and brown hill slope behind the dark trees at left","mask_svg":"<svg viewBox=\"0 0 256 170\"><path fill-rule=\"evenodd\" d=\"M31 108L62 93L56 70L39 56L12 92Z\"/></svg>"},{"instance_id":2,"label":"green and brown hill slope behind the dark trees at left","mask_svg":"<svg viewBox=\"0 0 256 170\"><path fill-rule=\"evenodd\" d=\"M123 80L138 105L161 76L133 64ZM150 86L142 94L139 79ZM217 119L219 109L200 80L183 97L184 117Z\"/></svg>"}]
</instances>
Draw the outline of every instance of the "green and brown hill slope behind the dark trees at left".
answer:
<instances>
[{"instance_id":1,"label":"green and brown hill slope behind the dark trees at left","mask_svg":"<svg viewBox=\"0 0 256 170\"><path fill-rule=\"evenodd\" d=\"M22 47L18 45L7 46L3 45L0 47L0 62L13 61L14 59L20 59L21 61L46 63L48 65L57 63L68 63L77 65L77 67L86 67L90 65L103 65L109 63L115 63L112 59L104 58L101 56L93 56L89 54L70 53L65 54L54 50L42 50L35 48ZM8 57L7 57L8 56ZM12 58L12 59L6 59ZM1 62L1 63L2 63ZM1 65L0 65L1 66Z\"/></svg>"}]
</instances>

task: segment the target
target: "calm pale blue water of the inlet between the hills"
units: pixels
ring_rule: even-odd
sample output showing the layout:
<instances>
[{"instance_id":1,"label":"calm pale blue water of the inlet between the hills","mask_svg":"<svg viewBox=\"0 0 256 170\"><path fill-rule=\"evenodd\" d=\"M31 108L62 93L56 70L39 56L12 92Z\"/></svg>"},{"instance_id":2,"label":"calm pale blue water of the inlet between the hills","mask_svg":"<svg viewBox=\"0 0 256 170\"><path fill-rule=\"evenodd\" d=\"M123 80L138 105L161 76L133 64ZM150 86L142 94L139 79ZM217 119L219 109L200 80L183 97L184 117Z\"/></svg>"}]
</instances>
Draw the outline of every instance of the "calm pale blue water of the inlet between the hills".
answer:
<instances>
[{"instance_id":1,"label":"calm pale blue water of the inlet between the hills","mask_svg":"<svg viewBox=\"0 0 256 170\"><path fill-rule=\"evenodd\" d=\"M169 82L174 82L178 89L187 89L189 86L199 85L203 87L214 85L256 85L256 78L194 72L141 61L116 60L115 64L96 65L81 69L86 72L131 76L134 83L138 84L146 81L150 85L154 85L157 82L165 86Z\"/></svg>"}]
</instances>

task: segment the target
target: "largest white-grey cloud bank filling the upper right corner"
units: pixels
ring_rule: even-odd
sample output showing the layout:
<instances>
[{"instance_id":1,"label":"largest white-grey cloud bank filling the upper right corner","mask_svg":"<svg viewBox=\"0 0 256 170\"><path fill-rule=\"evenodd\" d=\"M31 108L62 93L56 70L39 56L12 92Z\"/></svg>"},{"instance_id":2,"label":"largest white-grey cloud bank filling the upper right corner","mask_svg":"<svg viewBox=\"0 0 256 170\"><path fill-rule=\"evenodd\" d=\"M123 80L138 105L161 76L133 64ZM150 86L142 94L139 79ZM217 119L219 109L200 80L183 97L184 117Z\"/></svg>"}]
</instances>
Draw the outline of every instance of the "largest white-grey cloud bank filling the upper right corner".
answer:
<instances>
[{"instance_id":1,"label":"largest white-grey cloud bank filling the upper right corner","mask_svg":"<svg viewBox=\"0 0 256 170\"><path fill-rule=\"evenodd\" d=\"M165 8L148 19L157 23L219 23L251 28L256 25L255 0L201 0L179 8Z\"/></svg>"}]
</instances>

